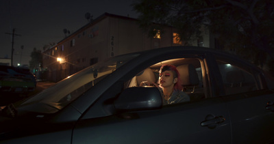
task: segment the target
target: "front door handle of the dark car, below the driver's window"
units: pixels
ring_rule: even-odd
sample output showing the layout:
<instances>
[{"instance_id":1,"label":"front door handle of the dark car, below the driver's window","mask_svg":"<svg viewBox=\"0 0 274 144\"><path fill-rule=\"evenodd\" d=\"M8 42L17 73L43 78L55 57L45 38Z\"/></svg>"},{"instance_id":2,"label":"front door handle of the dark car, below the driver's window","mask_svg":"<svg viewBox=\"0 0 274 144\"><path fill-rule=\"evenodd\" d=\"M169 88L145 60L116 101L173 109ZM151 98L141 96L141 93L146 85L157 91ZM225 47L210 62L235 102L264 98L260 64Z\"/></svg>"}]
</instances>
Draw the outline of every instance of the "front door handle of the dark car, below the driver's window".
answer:
<instances>
[{"instance_id":1,"label":"front door handle of the dark car, below the driver's window","mask_svg":"<svg viewBox=\"0 0 274 144\"><path fill-rule=\"evenodd\" d=\"M201 126L208 126L208 128L213 129L216 128L217 124L222 123L225 121L225 117L223 116L214 116L214 115L207 115L204 121L201 121Z\"/></svg>"}]
</instances>

